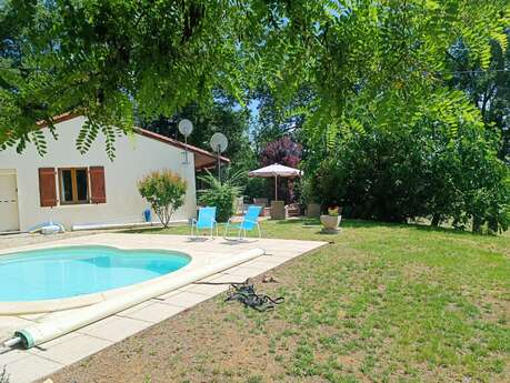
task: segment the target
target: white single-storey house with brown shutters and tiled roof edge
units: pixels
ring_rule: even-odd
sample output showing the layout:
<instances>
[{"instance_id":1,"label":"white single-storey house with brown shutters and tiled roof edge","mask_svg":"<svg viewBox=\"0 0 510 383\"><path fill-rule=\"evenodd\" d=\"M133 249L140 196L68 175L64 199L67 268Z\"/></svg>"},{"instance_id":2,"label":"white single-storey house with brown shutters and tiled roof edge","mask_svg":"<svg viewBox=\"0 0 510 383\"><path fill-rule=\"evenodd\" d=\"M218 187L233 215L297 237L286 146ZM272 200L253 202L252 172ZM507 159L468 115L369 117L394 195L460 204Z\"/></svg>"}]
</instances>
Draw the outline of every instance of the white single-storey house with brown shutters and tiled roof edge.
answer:
<instances>
[{"instance_id":1,"label":"white single-storey house with brown shutters and tiled roof edge","mask_svg":"<svg viewBox=\"0 0 510 383\"><path fill-rule=\"evenodd\" d=\"M137 181L161 169L173 171L188 183L186 202L172 221L196 215L196 171L214 167L216 154L140 128L136 128L134 138L117 139L113 161L101 135L81 154L76 140L84 122L81 115L56 118L58 140L41 124L48 145L44 157L33 145L21 154L14 148L0 151L0 232L29 231L50 220L68 230L141 223L149 205L138 192ZM221 161L229 162L223 157ZM158 221L153 213L152 221Z\"/></svg>"}]
</instances>

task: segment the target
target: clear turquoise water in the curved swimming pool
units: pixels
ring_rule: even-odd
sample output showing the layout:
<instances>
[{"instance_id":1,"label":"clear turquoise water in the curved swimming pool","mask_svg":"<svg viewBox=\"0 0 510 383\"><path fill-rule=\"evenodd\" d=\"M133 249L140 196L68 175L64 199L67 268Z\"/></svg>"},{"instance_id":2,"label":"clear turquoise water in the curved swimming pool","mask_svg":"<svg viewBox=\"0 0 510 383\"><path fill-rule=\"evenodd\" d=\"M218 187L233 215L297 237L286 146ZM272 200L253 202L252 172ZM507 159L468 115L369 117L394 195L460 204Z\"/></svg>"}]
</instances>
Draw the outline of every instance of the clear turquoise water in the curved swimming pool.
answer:
<instances>
[{"instance_id":1,"label":"clear turquoise water in the curved swimming pool","mask_svg":"<svg viewBox=\"0 0 510 383\"><path fill-rule=\"evenodd\" d=\"M97 293L171 273L191 259L153 250L69 246L0 256L0 301L40 301Z\"/></svg>"}]
</instances>

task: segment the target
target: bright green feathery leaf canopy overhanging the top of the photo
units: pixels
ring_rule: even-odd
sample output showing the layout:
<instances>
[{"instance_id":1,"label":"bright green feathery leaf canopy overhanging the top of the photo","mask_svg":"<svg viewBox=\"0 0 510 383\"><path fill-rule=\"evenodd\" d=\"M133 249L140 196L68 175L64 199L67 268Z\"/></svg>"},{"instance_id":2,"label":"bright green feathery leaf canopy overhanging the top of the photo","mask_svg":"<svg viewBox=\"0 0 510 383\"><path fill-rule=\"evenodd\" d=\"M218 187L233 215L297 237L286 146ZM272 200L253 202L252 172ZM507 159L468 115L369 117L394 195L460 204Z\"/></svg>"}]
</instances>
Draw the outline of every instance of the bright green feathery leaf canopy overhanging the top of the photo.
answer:
<instances>
[{"instance_id":1,"label":"bright green feathery leaf canopy overhanging the top of the photo","mask_svg":"<svg viewBox=\"0 0 510 383\"><path fill-rule=\"evenodd\" d=\"M222 89L241 104L263 84L310 142L341 129L414 121L479 121L463 93L441 87L459 42L487 68L489 41L508 44L506 0L52 0L0 9L0 144L46 147L36 122L89 118L87 151L143 118L172 115ZM114 16L114 17L113 17ZM300 92L307 104L293 104ZM352 99L356 100L352 100ZM113 128L118 127L118 128ZM402 127L400 127L401 129Z\"/></svg>"}]
</instances>

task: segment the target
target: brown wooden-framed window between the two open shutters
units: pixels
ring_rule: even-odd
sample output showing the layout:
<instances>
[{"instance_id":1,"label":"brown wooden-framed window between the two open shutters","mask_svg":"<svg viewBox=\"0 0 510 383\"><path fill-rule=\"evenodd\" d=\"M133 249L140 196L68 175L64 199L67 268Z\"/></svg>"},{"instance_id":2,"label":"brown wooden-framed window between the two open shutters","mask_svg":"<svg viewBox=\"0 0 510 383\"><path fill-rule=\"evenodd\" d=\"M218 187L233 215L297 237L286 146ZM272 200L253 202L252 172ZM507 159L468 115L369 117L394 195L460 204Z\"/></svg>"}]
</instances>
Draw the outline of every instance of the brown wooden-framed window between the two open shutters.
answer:
<instances>
[{"instance_id":1,"label":"brown wooden-framed window between the two open shutters","mask_svg":"<svg viewBox=\"0 0 510 383\"><path fill-rule=\"evenodd\" d=\"M59 169L60 203L89 203L89 172L87 168Z\"/></svg>"}]
</instances>

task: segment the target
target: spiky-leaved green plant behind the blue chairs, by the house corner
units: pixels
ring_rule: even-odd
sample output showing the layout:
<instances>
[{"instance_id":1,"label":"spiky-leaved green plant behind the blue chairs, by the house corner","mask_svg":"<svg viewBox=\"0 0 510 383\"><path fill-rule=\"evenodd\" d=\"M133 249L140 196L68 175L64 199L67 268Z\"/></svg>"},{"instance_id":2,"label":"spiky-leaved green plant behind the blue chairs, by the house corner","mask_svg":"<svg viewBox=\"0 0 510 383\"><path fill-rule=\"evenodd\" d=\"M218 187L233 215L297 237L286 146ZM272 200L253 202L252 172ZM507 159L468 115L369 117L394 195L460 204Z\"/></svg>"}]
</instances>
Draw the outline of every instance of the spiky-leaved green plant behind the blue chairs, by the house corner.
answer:
<instances>
[{"instance_id":1,"label":"spiky-leaved green plant behind the blue chairs, by the house corner","mask_svg":"<svg viewBox=\"0 0 510 383\"><path fill-rule=\"evenodd\" d=\"M221 182L207 171L206 175L199 177L199 180L208 185L208 189L199 190L199 203L217 206L217 221L228 221L234 213L234 200L241 194L242 188L239 184L244 177L243 172L234 172L227 174L226 180Z\"/></svg>"}]
</instances>

